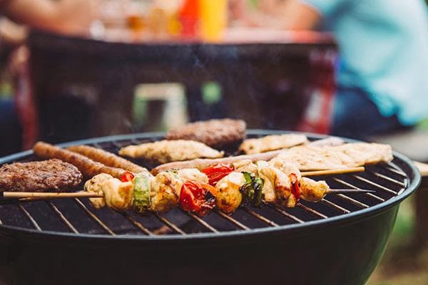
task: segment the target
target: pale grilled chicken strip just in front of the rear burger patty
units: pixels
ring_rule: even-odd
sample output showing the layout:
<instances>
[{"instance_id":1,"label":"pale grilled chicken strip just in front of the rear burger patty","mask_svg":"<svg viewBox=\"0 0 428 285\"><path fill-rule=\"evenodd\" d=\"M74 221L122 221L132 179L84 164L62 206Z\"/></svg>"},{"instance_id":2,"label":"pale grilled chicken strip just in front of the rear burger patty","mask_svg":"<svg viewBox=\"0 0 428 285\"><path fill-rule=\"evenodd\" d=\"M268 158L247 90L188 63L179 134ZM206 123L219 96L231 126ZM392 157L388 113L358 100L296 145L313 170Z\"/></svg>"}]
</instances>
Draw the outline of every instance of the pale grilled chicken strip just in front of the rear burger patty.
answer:
<instances>
[{"instance_id":1,"label":"pale grilled chicken strip just in front of the rear burger patty","mask_svg":"<svg viewBox=\"0 0 428 285\"><path fill-rule=\"evenodd\" d=\"M119 150L119 155L165 163L199 157L218 158L223 157L223 152L193 140L160 140L123 147Z\"/></svg>"}]
</instances>

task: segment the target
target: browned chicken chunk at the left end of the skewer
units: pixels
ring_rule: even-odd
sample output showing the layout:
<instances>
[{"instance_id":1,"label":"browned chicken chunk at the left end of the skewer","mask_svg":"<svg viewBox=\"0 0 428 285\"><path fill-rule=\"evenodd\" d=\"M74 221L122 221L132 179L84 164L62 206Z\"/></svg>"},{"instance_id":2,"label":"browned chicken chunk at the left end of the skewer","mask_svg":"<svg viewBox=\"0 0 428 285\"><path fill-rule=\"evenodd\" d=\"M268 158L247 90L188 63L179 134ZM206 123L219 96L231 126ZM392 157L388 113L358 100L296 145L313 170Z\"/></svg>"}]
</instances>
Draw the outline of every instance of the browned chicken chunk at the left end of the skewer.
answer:
<instances>
[{"instance_id":1,"label":"browned chicken chunk at the left end of the skewer","mask_svg":"<svg viewBox=\"0 0 428 285\"><path fill-rule=\"evenodd\" d=\"M91 204L96 209L107 205L111 209L124 211L131 207L133 200L133 182L121 182L117 178L106 173L96 175L91 180L86 181L85 191L103 193L103 198L91 198Z\"/></svg>"}]
</instances>

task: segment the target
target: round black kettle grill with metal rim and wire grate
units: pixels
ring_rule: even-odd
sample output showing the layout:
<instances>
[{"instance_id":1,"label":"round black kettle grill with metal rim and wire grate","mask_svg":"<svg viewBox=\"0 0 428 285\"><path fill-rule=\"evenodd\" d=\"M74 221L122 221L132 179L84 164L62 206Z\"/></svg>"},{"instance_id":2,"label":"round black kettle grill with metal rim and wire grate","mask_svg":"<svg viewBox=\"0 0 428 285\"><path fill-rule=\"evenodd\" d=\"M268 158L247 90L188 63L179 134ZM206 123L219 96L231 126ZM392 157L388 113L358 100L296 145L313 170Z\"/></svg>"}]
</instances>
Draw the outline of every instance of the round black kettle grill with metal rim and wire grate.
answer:
<instances>
[{"instance_id":1,"label":"round black kettle grill with metal rim and wire grate","mask_svg":"<svg viewBox=\"0 0 428 285\"><path fill-rule=\"evenodd\" d=\"M284 132L251 130L248 136L277 133ZM62 146L117 152L161 138L142 133ZM34 158L21 152L0 165ZM419 172L394 152L387 165L317 179L333 188L376 192L203 218L180 209L149 217L96 210L86 199L1 205L0 275L10 284L365 284L382 257L399 202L419 186Z\"/></svg>"}]
</instances>

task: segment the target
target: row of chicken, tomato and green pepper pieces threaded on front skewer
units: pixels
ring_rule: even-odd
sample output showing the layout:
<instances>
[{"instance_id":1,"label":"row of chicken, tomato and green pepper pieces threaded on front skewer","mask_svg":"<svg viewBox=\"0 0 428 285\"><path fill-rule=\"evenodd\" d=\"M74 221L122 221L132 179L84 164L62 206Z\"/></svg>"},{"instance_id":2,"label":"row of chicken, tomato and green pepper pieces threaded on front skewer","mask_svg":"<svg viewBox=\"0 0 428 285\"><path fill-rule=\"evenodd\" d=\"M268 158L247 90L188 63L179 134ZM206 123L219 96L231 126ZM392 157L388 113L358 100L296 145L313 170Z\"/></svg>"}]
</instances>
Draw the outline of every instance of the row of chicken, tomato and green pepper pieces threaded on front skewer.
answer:
<instances>
[{"instance_id":1,"label":"row of chicken, tomato and green pepper pieces threaded on front skewer","mask_svg":"<svg viewBox=\"0 0 428 285\"><path fill-rule=\"evenodd\" d=\"M144 172L128 178L121 181L100 174L88 180L84 189L104 197L90 199L98 209L107 205L126 210L132 206L139 213L147 213L168 212L179 206L200 216L214 206L227 214L240 205L260 207L263 202L295 207L300 199L318 202L330 190L325 181L301 177L297 167L285 162L272 165L247 160L233 167L213 165L202 171L183 169L156 176Z\"/></svg>"}]
</instances>

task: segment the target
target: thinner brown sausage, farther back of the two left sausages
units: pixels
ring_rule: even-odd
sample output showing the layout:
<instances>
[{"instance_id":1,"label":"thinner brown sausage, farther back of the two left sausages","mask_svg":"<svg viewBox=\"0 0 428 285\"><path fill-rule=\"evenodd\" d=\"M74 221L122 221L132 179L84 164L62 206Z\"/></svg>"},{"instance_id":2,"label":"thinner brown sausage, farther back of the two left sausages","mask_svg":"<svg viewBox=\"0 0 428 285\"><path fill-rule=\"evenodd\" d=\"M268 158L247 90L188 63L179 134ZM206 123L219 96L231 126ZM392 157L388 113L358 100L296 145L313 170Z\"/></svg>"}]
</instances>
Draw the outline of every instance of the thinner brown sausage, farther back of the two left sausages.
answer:
<instances>
[{"instance_id":1,"label":"thinner brown sausage, farther back of the two left sausages","mask_svg":"<svg viewBox=\"0 0 428 285\"><path fill-rule=\"evenodd\" d=\"M140 165L136 165L135 163L126 160L125 158L119 157L111 152L107 152L106 150L101 150L96 147L90 147L88 145L73 145L71 147L67 147L67 150L80 153L81 155L91 158L91 160L101 162L103 165L110 167L117 167L134 173L148 172L146 168L141 167Z\"/></svg>"}]
</instances>

